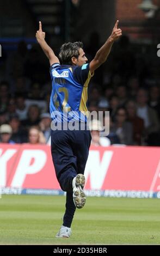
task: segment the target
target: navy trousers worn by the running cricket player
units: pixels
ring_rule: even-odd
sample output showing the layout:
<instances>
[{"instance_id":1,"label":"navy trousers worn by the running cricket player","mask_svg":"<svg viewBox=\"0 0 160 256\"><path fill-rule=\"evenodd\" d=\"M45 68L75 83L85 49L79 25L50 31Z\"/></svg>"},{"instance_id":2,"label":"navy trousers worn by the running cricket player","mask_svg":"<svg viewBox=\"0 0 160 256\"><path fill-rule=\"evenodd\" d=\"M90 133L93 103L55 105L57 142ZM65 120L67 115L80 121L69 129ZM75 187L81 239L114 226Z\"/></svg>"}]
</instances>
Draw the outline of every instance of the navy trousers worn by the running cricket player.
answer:
<instances>
[{"instance_id":1,"label":"navy trousers worn by the running cricket player","mask_svg":"<svg viewBox=\"0 0 160 256\"><path fill-rule=\"evenodd\" d=\"M61 189L66 191L63 225L69 228L76 210L72 197L72 180L78 173L84 174L90 142L89 130L51 132L51 153L56 176Z\"/></svg>"}]
</instances>

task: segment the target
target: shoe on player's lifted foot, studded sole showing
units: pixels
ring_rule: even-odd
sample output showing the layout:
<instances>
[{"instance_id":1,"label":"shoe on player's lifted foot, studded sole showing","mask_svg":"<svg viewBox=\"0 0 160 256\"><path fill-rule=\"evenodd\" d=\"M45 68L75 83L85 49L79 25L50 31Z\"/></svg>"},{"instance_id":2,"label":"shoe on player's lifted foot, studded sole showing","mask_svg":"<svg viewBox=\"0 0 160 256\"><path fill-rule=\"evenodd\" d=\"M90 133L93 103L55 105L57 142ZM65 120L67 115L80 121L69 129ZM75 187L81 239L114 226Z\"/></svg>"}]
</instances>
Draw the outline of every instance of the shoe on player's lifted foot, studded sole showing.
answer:
<instances>
[{"instance_id":1,"label":"shoe on player's lifted foot, studded sole showing","mask_svg":"<svg viewBox=\"0 0 160 256\"><path fill-rule=\"evenodd\" d=\"M73 178L72 187L73 187L73 202L75 206L79 209L83 208L86 200L86 197L83 191L84 185L85 185L84 175L77 174L77 176Z\"/></svg>"}]
</instances>

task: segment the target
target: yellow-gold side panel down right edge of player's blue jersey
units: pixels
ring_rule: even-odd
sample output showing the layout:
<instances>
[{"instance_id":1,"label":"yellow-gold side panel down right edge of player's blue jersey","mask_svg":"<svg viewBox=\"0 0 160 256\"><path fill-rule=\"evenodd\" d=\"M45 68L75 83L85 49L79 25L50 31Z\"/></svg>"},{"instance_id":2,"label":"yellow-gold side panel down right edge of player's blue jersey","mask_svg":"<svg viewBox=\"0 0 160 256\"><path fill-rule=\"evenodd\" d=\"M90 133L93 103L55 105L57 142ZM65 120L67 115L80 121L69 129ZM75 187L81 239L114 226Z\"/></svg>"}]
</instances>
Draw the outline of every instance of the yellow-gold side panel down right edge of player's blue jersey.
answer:
<instances>
[{"instance_id":1,"label":"yellow-gold side panel down right edge of player's blue jersey","mask_svg":"<svg viewBox=\"0 0 160 256\"><path fill-rule=\"evenodd\" d=\"M79 111L81 111L84 115L87 115L87 117L88 117L88 109L87 109L86 103L88 100L88 84L89 84L90 78L93 76L94 76L94 72L93 72L93 74L91 74L91 72L89 71L88 78L84 83L82 96L81 96L81 102L79 105Z\"/></svg>"}]
</instances>

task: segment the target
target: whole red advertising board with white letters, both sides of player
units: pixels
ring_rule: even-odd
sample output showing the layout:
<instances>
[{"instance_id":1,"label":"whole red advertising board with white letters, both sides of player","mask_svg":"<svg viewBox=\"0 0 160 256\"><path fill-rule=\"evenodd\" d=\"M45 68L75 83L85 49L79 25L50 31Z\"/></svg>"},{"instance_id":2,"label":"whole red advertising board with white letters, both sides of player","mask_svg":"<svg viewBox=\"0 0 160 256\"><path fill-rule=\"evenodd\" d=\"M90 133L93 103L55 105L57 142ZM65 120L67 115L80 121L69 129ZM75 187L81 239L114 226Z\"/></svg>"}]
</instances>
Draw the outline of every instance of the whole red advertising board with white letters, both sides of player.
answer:
<instances>
[{"instance_id":1,"label":"whole red advertising board with white letters, both sides of player","mask_svg":"<svg viewBox=\"0 0 160 256\"><path fill-rule=\"evenodd\" d=\"M159 147L91 147L85 190L160 191ZM60 190L47 145L0 144L0 187Z\"/></svg>"}]
</instances>

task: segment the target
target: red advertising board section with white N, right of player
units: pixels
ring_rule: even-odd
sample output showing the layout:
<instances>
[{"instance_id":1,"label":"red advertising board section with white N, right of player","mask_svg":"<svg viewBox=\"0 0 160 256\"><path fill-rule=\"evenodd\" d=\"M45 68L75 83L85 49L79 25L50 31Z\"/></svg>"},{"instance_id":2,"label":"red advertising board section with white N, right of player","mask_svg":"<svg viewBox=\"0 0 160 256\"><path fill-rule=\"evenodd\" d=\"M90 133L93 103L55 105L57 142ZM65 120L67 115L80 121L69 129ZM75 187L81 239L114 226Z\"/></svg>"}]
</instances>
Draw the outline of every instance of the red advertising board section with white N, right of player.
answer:
<instances>
[{"instance_id":1,"label":"red advertising board section with white N, right of player","mask_svg":"<svg viewBox=\"0 0 160 256\"><path fill-rule=\"evenodd\" d=\"M91 148L86 188L101 190L160 190L160 148Z\"/></svg>"}]
</instances>

